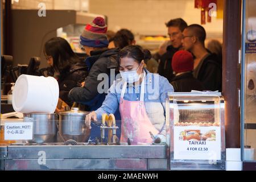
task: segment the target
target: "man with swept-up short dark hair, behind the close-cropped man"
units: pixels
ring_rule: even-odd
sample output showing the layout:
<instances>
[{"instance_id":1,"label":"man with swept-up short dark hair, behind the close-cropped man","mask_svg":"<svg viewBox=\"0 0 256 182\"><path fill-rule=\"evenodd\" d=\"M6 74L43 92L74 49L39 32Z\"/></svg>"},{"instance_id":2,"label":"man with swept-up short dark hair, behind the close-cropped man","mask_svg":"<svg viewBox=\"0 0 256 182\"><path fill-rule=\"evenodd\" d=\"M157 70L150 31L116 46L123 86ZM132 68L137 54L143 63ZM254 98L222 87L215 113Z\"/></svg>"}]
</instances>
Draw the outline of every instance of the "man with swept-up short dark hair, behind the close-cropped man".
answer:
<instances>
[{"instance_id":1,"label":"man with swept-up short dark hair, behind the close-cropped man","mask_svg":"<svg viewBox=\"0 0 256 182\"><path fill-rule=\"evenodd\" d=\"M158 73L171 82L174 77L172 71L172 56L182 47L182 32L184 28L187 27L187 23L181 18L176 18L171 19L166 23L166 26L168 27L168 35L170 36L171 45L167 47L167 52L160 57Z\"/></svg>"}]
</instances>

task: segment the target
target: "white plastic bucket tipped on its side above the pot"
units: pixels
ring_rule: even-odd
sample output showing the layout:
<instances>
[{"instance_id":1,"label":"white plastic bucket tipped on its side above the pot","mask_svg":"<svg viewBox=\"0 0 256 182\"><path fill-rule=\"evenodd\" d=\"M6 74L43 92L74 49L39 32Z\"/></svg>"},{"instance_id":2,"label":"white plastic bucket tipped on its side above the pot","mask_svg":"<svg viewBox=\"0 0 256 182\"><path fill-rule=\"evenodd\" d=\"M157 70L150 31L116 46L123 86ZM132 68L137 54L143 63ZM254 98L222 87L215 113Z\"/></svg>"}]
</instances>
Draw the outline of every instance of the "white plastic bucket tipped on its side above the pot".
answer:
<instances>
[{"instance_id":1,"label":"white plastic bucket tipped on its side above the pot","mask_svg":"<svg viewBox=\"0 0 256 182\"><path fill-rule=\"evenodd\" d=\"M54 113L58 98L55 78L20 75L13 90L13 109L20 113Z\"/></svg>"}]
</instances>

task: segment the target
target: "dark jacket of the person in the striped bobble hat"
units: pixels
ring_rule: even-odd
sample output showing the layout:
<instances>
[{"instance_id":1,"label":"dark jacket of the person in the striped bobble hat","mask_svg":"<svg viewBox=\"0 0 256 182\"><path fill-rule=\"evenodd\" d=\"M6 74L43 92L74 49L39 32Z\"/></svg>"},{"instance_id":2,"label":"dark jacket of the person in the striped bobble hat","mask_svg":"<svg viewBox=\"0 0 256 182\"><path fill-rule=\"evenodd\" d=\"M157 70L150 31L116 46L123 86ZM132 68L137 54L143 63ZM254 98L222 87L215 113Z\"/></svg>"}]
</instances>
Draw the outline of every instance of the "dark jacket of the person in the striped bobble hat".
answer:
<instances>
[{"instance_id":1,"label":"dark jacket of the person in the striped bobble hat","mask_svg":"<svg viewBox=\"0 0 256 182\"><path fill-rule=\"evenodd\" d=\"M69 98L75 102L88 102L97 96L98 84L102 80L98 80L100 73L110 75L110 69L118 71L119 63L117 60L117 53L119 49L106 49L103 51L92 51L90 57L85 61L89 68L89 75L85 79L84 87L73 88L69 92ZM110 87L110 85L109 85ZM108 88L107 88L108 89Z\"/></svg>"}]
</instances>

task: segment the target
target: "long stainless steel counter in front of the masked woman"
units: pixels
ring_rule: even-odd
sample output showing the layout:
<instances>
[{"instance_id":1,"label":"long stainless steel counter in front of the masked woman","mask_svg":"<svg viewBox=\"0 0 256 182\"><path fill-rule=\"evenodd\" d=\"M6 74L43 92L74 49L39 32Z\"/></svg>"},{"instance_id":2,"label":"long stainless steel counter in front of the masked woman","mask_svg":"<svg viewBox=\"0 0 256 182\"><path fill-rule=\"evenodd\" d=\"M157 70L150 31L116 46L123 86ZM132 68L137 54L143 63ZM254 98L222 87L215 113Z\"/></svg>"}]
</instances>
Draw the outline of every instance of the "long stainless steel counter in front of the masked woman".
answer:
<instances>
[{"instance_id":1,"label":"long stainless steel counter in front of the masked woman","mask_svg":"<svg viewBox=\"0 0 256 182\"><path fill-rule=\"evenodd\" d=\"M0 147L1 170L167 170L167 146L13 144Z\"/></svg>"}]
</instances>

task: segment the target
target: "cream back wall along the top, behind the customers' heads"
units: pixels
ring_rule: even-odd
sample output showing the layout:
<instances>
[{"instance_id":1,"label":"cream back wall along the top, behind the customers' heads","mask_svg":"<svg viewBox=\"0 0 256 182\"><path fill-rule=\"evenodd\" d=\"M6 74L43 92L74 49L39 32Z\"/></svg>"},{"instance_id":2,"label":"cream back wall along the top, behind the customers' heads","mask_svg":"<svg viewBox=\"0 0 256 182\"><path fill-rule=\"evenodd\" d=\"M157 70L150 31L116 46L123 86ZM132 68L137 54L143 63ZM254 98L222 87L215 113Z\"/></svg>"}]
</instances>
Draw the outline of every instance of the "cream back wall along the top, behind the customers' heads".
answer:
<instances>
[{"instance_id":1,"label":"cream back wall along the top, behind the customers' heads","mask_svg":"<svg viewBox=\"0 0 256 182\"><path fill-rule=\"evenodd\" d=\"M165 22L183 18L188 24L200 24L200 9L194 0L19 0L13 9L38 9L40 2L47 9L89 10L108 16L109 30L129 28L135 34L167 35ZM89 3L89 7L88 7ZM212 18L204 25L208 38L222 38L222 19Z\"/></svg>"}]
</instances>

